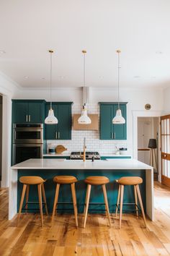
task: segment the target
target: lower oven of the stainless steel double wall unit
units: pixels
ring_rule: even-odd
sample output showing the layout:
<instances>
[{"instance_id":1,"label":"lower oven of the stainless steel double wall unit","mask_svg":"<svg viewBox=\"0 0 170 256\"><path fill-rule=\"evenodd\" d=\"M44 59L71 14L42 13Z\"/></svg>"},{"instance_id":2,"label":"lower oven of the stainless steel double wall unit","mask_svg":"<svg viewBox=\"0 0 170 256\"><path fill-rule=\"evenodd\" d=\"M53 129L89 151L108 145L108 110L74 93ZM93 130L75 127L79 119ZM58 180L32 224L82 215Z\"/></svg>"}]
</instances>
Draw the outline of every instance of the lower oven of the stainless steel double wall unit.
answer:
<instances>
[{"instance_id":1,"label":"lower oven of the stainless steel double wall unit","mask_svg":"<svg viewBox=\"0 0 170 256\"><path fill-rule=\"evenodd\" d=\"M13 144L13 164L30 158L42 158L43 144Z\"/></svg>"}]
</instances>

